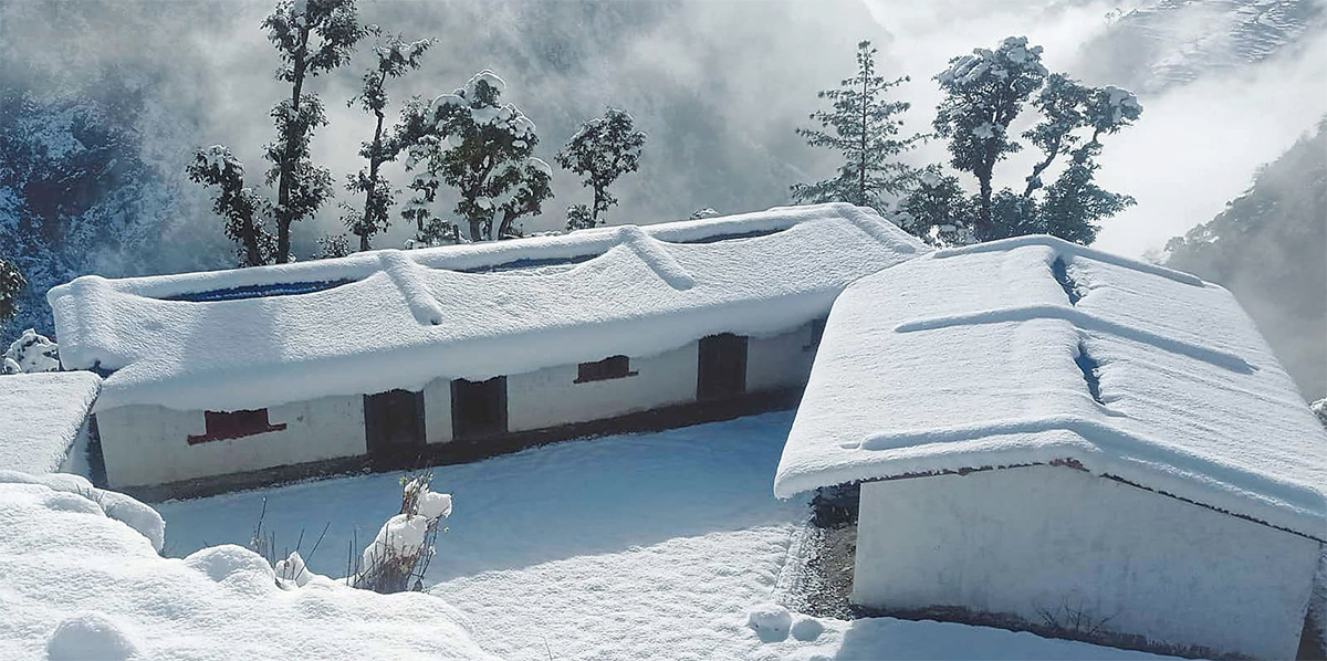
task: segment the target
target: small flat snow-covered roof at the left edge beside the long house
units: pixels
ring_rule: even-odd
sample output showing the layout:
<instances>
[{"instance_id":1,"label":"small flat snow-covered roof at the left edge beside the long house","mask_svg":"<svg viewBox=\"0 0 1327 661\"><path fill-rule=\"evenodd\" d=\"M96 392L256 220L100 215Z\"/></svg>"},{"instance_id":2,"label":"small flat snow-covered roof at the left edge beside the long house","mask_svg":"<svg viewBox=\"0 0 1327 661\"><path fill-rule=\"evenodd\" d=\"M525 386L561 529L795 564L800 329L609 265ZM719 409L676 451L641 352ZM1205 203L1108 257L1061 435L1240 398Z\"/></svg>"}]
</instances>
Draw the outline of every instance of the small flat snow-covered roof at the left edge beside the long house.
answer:
<instances>
[{"instance_id":1,"label":"small flat snow-covered roof at the left edge beside the long house","mask_svg":"<svg viewBox=\"0 0 1327 661\"><path fill-rule=\"evenodd\" d=\"M0 376L0 470L58 470L100 388L92 372Z\"/></svg>"}]
</instances>

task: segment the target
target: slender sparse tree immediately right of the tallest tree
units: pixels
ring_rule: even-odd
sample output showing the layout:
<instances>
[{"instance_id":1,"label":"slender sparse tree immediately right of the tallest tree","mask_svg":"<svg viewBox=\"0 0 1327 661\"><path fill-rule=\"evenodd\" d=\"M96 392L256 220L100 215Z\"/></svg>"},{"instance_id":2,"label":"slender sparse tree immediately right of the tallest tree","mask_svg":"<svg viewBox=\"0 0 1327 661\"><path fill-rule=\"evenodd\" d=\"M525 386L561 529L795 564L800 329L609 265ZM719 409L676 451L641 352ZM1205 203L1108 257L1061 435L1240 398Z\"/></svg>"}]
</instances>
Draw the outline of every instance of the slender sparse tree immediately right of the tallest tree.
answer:
<instances>
[{"instance_id":1,"label":"slender sparse tree immediately right of the tallest tree","mask_svg":"<svg viewBox=\"0 0 1327 661\"><path fill-rule=\"evenodd\" d=\"M384 37L377 25L370 25L366 32L380 37L378 44L373 48L377 64L364 74L364 86L349 105L353 106L358 102L360 108L372 113L377 121L373 127L373 139L362 142L360 146L360 155L369 161L369 166L349 175L345 186L348 191L364 195L364 210L360 211L342 203L342 208L346 211L345 226L350 234L360 238L361 251L369 250L373 235L386 231L390 224L387 211L391 208L393 191L390 182L382 177L381 169L382 163L395 161L401 150L393 141L384 139L382 134L382 122L387 108L387 78L399 78L418 69L425 50L434 42L431 38L403 41L399 36Z\"/></svg>"}]
</instances>

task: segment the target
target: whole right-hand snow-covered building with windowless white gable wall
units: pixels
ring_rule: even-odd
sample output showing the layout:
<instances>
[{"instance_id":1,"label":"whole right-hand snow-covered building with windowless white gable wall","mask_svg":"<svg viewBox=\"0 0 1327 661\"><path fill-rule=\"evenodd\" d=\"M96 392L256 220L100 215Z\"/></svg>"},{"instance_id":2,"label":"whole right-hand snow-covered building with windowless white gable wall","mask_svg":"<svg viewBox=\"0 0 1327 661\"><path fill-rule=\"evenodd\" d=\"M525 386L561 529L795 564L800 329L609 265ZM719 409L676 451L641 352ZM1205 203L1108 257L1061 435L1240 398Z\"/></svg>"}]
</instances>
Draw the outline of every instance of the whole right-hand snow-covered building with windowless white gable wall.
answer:
<instances>
[{"instance_id":1,"label":"whole right-hand snow-covered building with windowless white gable wall","mask_svg":"<svg viewBox=\"0 0 1327 661\"><path fill-rule=\"evenodd\" d=\"M861 607L1184 653L1292 658L1327 540L1327 434L1230 293L1046 236L844 291L775 492L837 484Z\"/></svg>"}]
</instances>

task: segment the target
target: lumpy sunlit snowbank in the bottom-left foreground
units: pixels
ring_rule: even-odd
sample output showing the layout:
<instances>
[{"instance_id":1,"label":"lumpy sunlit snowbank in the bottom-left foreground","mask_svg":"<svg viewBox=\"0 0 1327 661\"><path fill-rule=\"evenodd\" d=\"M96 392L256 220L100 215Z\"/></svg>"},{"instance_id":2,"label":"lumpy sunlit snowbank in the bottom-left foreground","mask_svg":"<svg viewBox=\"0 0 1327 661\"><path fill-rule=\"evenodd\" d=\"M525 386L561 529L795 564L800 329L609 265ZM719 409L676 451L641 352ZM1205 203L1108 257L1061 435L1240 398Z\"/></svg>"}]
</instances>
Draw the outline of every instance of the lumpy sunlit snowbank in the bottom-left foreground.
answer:
<instances>
[{"instance_id":1,"label":"lumpy sunlit snowbank in the bottom-left foreground","mask_svg":"<svg viewBox=\"0 0 1327 661\"><path fill-rule=\"evenodd\" d=\"M326 579L283 589L238 546L165 559L98 500L11 478L0 475L0 658L494 658L431 595Z\"/></svg>"}]
</instances>

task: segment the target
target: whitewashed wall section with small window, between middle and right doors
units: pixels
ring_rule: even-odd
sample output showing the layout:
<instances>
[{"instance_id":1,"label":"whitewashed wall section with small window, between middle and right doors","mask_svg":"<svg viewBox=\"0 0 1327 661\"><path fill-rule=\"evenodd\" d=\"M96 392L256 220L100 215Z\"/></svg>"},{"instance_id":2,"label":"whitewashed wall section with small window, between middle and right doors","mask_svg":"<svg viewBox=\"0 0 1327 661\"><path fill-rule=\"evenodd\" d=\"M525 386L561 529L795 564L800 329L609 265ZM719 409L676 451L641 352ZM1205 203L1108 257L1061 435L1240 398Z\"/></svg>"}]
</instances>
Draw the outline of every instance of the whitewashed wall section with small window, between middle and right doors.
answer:
<instances>
[{"instance_id":1,"label":"whitewashed wall section with small window, between middle and right doors","mask_svg":"<svg viewBox=\"0 0 1327 661\"><path fill-rule=\"evenodd\" d=\"M576 384L576 365L508 376L507 429L553 427L695 401L697 350L691 342L658 356L633 356L636 376L606 381Z\"/></svg>"}]
</instances>

